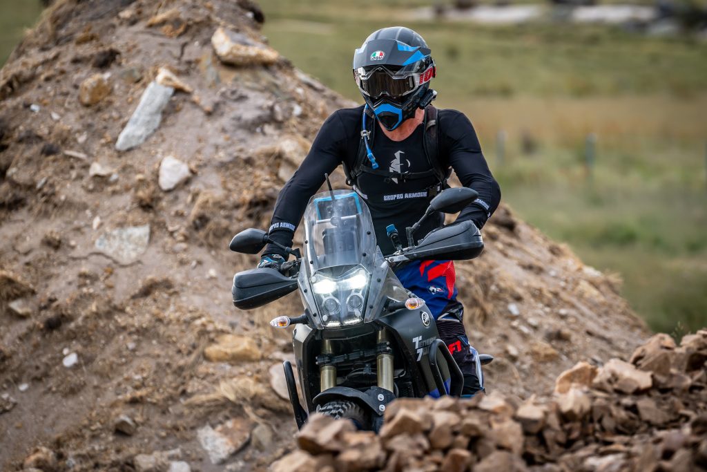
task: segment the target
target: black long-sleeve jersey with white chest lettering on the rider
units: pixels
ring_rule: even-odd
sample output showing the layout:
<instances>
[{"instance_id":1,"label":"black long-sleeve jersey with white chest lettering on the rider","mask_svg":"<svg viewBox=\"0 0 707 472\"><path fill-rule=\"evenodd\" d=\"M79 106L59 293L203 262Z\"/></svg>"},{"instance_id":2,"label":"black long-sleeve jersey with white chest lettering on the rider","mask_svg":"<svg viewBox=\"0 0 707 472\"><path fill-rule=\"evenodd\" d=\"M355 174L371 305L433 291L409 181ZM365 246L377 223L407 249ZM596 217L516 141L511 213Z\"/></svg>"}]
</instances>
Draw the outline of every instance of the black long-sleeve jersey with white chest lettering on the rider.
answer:
<instances>
[{"instance_id":1,"label":"black long-sleeve jersey with white chest lettering on the rider","mask_svg":"<svg viewBox=\"0 0 707 472\"><path fill-rule=\"evenodd\" d=\"M291 246L307 202L324 183L325 173L332 173L341 163L346 163L349 168L354 166L361 139L362 113L363 105L337 110L322 125L309 154L285 184L275 203L269 229L275 241ZM374 125L378 126L378 123ZM457 221L470 219L481 228L498 207L501 189L491 175L484 154L481 154L474 127L457 110L439 110L437 127L440 164L445 168L451 166L462 185L479 192L477 200L462 210ZM423 133L420 125L409 137L395 142L377 130L371 150L379 168L395 173L428 171L430 164L423 149ZM370 163L366 161L364 165L370 166ZM387 255L395 252L395 248L386 236L385 226L395 224L402 242L406 243L404 229L422 217L433 196L428 189L435 187L438 181L434 175L400 180L361 173L356 184L356 192L366 200L370 209L378 246ZM416 232L416 238L421 238L442 222L443 215L428 217ZM269 245L265 252L285 255L273 245Z\"/></svg>"}]
</instances>

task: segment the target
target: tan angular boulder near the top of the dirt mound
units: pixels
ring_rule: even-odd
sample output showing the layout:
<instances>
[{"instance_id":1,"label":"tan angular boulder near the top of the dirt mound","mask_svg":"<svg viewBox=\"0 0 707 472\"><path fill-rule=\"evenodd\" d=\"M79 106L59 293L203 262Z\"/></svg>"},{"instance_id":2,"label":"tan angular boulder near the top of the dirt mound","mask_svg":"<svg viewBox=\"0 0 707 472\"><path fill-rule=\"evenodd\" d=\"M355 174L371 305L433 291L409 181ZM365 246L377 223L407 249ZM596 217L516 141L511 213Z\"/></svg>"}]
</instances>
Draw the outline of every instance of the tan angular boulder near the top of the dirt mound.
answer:
<instances>
[{"instance_id":1,"label":"tan angular boulder near the top of the dirt mound","mask_svg":"<svg viewBox=\"0 0 707 472\"><path fill-rule=\"evenodd\" d=\"M280 57L276 50L225 28L216 29L211 46L221 62L232 66L274 64Z\"/></svg>"}]
</instances>

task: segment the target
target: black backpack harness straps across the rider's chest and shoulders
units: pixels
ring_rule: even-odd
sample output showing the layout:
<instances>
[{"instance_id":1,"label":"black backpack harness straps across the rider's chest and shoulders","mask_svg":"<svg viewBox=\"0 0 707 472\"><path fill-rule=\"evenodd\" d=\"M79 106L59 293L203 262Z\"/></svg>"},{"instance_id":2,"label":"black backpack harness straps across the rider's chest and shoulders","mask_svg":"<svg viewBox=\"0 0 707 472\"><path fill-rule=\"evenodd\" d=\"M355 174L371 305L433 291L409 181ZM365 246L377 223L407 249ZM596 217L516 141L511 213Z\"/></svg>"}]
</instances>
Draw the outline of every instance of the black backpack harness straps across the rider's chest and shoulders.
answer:
<instances>
[{"instance_id":1,"label":"black backpack harness straps across the rider's chest and shoulders","mask_svg":"<svg viewBox=\"0 0 707 472\"><path fill-rule=\"evenodd\" d=\"M430 168L427 171L422 172L391 172L382 168L373 169L370 167L370 165L367 165L368 157L366 156L366 144L363 142L363 140L366 139L366 135L368 135L368 142L373 143L375 131L378 126L376 125L376 120L373 113L371 113L370 110L366 110L365 113L369 114L369 116L371 117L370 121L373 123L373 125L371 126L370 131L368 131L368 129L361 130L361 139L358 142L358 153L356 154L356 162L354 163L354 166L349 167L346 163L344 163L346 185L351 185L352 187L356 188L356 181L358 180L358 176L365 172L372 175L380 175L381 177L386 179L397 178L400 181L416 180L434 175L437 178L438 183L436 185L433 185L432 188L426 189L428 190L429 195L431 197L436 195L441 190L448 188L447 180L452 173L452 169L449 166L443 168L442 164L439 161L437 108L433 107L432 105L428 105L428 107L425 108L425 117L423 118L422 122L425 132L423 134L422 143L425 152L425 157L427 158L427 162Z\"/></svg>"}]
</instances>

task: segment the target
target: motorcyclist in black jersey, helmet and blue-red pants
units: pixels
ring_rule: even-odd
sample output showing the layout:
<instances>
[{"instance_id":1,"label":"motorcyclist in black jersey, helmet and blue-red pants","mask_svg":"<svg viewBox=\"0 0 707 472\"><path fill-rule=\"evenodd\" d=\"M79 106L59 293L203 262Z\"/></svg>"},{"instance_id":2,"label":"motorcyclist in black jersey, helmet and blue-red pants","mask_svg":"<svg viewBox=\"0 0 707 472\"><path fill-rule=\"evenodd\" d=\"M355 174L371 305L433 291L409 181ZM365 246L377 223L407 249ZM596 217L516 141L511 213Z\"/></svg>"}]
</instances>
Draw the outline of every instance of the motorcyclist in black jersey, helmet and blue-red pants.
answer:
<instances>
[{"instance_id":1,"label":"motorcyclist in black jersey, helmet and blue-red pants","mask_svg":"<svg viewBox=\"0 0 707 472\"><path fill-rule=\"evenodd\" d=\"M399 26L375 31L356 50L353 69L366 103L337 110L322 125L308 156L279 194L271 238L291 246L308 200L324 183L325 173L339 164L344 166L347 183L366 200L384 255L395 252L385 227L412 226L431 198L447 186L452 169L462 185L479 192L456 221L471 220L481 229L498 207L501 190L468 118L457 110L431 107L436 92L430 81L436 67L423 38ZM436 134L428 135L429 129ZM424 236L443 221L443 214L428 217L417 234ZM413 243L404 231L400 236L403 246ZM270 244L258 267L279 268L286 258L284 251ZM416 261L396 268L395 273L404 287L425 299L435 317L440 338L464 374L462 394L479 391L481 372L462 323L454 263Z\"/></svg>"}]
</instances>

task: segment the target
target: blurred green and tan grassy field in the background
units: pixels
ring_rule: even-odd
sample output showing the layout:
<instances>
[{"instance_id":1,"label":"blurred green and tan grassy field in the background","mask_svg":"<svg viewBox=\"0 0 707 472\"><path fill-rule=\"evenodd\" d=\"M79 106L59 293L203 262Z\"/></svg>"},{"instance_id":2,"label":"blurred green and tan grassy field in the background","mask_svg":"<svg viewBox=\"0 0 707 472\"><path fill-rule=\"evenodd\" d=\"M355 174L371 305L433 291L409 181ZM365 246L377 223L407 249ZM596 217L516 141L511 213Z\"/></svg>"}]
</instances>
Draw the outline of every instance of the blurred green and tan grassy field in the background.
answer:
<instances>
[{"instance_id":1,"label":"blurred green and tan grassy field in the background","mask_svg":"<svg viewBox=\"0 0 707 472\"><path fill-rule=\"evenodd\" d=\"M436 104L471 117L503 200L588 263L618 272L655 330L706 323L704 30L415 19L427 0L260 4L274 47L358 101L354 48L385 25L419 31L438 65Z\"/></svg>"}]
</instances>

